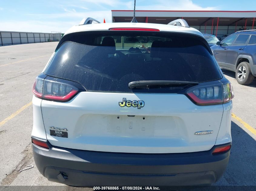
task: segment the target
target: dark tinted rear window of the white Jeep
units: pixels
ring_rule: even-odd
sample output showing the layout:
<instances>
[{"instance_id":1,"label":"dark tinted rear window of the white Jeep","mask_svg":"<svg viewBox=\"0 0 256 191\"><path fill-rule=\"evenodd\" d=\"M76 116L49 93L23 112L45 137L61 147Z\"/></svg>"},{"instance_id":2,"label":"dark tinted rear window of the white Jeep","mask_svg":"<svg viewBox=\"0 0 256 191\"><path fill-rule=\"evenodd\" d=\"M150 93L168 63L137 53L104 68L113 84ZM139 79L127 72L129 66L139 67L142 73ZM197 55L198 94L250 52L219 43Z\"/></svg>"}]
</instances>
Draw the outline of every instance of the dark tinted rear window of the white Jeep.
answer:
<instances>
[{"instance_id":1,"label":"dark tinted rear window of the white Jeep","mask_svg":"<svg viewBox=\"0 0 256 191\"><path fill-rule=\"evenodd\" d=\"M46 75L87 91L171 93L177 87L129 89L131 81L214 81L222 78L201 37L163 32L98 31L63 37Z\"/></svg>"}]
</instances>

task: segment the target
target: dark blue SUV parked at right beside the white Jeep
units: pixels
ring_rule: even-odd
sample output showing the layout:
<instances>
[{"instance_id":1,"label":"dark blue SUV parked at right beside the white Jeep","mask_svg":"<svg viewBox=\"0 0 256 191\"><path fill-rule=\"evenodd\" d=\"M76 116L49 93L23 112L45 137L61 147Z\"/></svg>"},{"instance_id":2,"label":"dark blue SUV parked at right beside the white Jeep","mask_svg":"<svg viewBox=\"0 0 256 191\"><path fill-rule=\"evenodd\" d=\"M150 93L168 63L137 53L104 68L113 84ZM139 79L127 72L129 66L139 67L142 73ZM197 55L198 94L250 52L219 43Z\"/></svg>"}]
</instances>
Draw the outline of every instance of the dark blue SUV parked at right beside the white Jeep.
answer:
<instances>
[{"instance_id":1,"label":"dark blue SUV parked at right beside the white Jeep","mask_svg":"<svg viewBox=\"0 0 256 191\"><path fill-rule=\"evenodd\" d=\"M239 84L251 84L256 76L256 30L238 31L211 49L221 68L236 72Z\"/></svg>"}]
</instances>

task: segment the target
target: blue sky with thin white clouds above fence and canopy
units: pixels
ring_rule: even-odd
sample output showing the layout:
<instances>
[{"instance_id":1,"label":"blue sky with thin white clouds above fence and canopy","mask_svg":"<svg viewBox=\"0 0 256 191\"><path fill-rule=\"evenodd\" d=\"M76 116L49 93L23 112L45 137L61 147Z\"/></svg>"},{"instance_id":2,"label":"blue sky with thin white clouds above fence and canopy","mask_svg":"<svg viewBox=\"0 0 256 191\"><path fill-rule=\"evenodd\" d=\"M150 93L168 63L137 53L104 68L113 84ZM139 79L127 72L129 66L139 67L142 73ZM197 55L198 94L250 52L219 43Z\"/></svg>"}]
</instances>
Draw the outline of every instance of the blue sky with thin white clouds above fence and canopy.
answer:
<instances>
[{"instance_id":1,"label":"blue sky with thin white clouds above fence and canopy","mask_svg":"<svg viewBox=\"0 0 256 191\"><path fill-rule=\"evenodd\" d=\"M85 17L111 22L111 10L132 10L133 4L133 0L0 0L0 30L64 33ZM137 0L136 9L254 11L256 1Z\"/></svg>"}]
</instances>

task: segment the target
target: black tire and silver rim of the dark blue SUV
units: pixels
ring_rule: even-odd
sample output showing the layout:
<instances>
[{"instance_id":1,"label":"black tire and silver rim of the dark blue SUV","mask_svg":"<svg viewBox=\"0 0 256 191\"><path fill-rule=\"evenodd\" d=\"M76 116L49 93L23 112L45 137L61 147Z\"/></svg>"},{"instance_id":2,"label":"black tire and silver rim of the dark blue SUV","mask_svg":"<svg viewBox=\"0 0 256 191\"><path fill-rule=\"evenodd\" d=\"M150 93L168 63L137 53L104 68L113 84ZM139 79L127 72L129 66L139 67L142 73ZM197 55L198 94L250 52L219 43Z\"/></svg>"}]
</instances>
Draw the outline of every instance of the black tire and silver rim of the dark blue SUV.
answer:
<instances>
[{"instance_id":1,"label":"black tire and silver rim of the dark blue SUV","mask_svg":"<svg viewBox=\"0 0 256 191\"><path fill-rule=\"evenodd\" d=\"M254 76L251 74L250 64L241 62L236 68L236 80L238 84L248 85L253 81Z\"/></svg>"}]
</instances>

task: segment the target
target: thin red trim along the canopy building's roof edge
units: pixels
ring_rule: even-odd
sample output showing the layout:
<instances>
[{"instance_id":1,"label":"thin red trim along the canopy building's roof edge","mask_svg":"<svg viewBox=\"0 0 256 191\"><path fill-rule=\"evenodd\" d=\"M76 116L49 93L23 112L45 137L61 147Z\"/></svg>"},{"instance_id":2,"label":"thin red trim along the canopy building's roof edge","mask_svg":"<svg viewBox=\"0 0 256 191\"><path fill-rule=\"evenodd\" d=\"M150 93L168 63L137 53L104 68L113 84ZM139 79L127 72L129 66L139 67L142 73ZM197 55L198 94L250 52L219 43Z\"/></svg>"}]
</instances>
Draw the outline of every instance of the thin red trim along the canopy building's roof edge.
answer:
<instances>
[{"instance_id":1,"label":"thin red trim along the canopy building's roof edge","mask_svg":"<svg viewBox=\"0 0 256 191\"><path fill-rule=\"evenodd\" d=\"M132 11L133 10L111 10L112 12L114 11ZM136 10L136 12L227 12L227 13L255 13L256 11L177 11L177 10L174 10L174 11L163 11L163 10L159 10L159 11L156 11L156 10Z\"/></svg>"}]
</instances>

